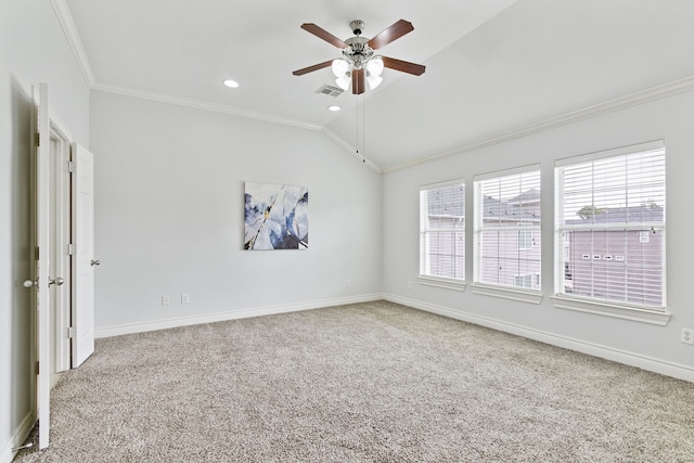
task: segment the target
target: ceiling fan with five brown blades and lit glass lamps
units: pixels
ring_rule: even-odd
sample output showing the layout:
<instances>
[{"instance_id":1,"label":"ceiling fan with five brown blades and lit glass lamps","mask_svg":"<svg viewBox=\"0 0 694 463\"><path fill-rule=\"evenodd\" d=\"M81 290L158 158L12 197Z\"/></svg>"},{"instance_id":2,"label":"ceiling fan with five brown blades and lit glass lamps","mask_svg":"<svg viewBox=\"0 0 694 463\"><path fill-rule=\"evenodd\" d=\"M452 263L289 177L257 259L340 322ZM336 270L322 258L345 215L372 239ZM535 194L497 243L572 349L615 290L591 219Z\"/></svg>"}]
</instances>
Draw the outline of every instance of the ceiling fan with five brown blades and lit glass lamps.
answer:
<instances>
[{"instance_id":1,"label":"ceiling fan with five brown blades and lit glass lamps","mask_svg":"<svg viewBox=\"0 0 694 463\"><path fill-rule=\"evenodd\" d=\"M304 74L312 73L313 70L330 66L333 69L333 74L336 78L335 82L338 87L343 90L347 90L351 81L351 92L354 94L361 94L365 91L365 82L368 82L369 88L373 90L383 81L381 73L384 67L415 76L420 76L424 73L425 66L422 66L421 64L409 63L407 61L376 54L376 51L382 47L385 47L391 41L414 30L412 23L400 20L371 39L361 37L361 33L364 29L363 21L355 20L349 23L349 26L351 27L355 37L350 37L343 41L316 24L301 24L301 29L313 34L316 37L325 40L327 43L331 43L338 49L342 49L343 57L314 64L312 66L295 70L292 74L295 76L303 76Z\"/></svg>"}]
</instances>

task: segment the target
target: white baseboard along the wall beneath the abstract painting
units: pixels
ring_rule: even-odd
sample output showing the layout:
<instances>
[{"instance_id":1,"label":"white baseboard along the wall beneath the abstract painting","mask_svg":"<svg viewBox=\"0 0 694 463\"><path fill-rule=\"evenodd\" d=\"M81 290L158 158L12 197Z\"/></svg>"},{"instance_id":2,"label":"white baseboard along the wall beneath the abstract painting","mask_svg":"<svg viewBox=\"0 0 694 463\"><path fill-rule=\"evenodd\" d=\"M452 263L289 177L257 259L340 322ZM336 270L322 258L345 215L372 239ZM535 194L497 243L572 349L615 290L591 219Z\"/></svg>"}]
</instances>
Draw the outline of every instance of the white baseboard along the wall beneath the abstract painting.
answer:
<instances>
[{"instance_id":1,"label":"white baseboard along the wall beneath the abstract painting","mask_svg":"<svg viewBox=\"0 0 694 463\"><path fill-rule=\"evenodd\" d=\"M347 304L370 303L383 299L382 294L367 294L355 297L343 297L337 299L312 300L308 303L292 304L285 306L255 307L242 310L231 310L228 312L206 313L195 317L182 317L176 319L156 320L143 323L129 323L117 326L98 327L94 336L111 337L123 334L144 333L147 331L167 330L170 327L189 326L201 323L222 322L227 320L245 319L250 317L271 316L275 313L296 312L300 310L320 309L324 307L344 306Z\"/></svg>"}]
</instances>

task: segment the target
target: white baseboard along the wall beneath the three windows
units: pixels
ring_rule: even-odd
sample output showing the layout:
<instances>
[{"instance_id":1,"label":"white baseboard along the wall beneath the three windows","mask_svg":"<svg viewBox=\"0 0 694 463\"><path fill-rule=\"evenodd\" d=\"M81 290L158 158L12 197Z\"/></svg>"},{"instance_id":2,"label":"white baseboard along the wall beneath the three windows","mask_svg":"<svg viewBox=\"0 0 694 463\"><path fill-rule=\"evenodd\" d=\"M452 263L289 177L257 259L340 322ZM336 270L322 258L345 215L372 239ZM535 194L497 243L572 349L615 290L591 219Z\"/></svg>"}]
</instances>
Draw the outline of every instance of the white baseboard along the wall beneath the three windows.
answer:
<instances>
[{"instance_id":1,"label":"white baseboard along the wall beneath the three windows","mask_svg":"<svg viewBox=\"0 0 694 463\"><path fill-rule=\"evenodd\" d=\"M394 295L384 295L383 299L391 303L401 304L414 309L424 310L439 316L478 324L497 331L515 334L517 336L527 337L529 339L539 340L552 346L562 347L569 350L587 353L593 357L600 357L614 362L624 363L630 366L637 366L642 370L659 373L666 376L672 376L678 380L684 380L694 383L694 369L665 362L663 360L653 359L638 353L628 352L626 350L614 349L612 347L601 346L584 340L575 339L556 334L529 329L526 326L506 323L500 320L480 317L474 313L467 313L461 310L453 310L447 307L436 306L433 304L422 303L420 300L408 299Z\"/></svg>"}]
</instances>

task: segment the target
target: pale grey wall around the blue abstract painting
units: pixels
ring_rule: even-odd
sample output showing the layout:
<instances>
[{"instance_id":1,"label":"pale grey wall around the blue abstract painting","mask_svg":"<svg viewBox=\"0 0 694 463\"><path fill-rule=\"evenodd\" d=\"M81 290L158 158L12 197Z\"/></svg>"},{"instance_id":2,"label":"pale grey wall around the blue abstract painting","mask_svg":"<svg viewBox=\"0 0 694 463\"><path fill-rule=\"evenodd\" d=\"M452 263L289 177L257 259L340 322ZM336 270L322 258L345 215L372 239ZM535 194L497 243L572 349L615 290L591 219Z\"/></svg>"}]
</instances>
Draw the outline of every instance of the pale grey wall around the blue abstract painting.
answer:
<instances>
[{"instance_id":1,"label":"pale grey wall around the blue abstract painting","mask_svg":"<svg viewBox=\"0 0 694 463\"><path fill-rule=\"evenodd\" d=\"M98 335L378 297L381 177L320 132L93 91L91 147ZM243 250L244 181L308 187L308 250Z\"/></svg>"}]
</instances>

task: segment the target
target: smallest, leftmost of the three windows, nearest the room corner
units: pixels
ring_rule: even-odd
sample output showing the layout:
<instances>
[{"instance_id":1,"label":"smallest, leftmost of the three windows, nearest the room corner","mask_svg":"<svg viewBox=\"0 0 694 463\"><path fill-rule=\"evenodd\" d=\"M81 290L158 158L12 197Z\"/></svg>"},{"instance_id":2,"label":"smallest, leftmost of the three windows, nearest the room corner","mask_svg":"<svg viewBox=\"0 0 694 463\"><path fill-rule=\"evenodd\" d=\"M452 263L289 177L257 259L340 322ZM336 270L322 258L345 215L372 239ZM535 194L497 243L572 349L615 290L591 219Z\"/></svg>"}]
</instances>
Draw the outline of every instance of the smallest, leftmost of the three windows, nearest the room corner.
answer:
<instances>
[{"instance_id":1,"label":"smallest, leftmost of the three windows, nearest the room corner","mask_svg":"<svg viewBox=\"0 0 694 463\"><path fill-rule=\"evenodd\" d=\"M422 187L420 191L420 273L465 280L465 184Z\"/></svg>"}]
</instances>

